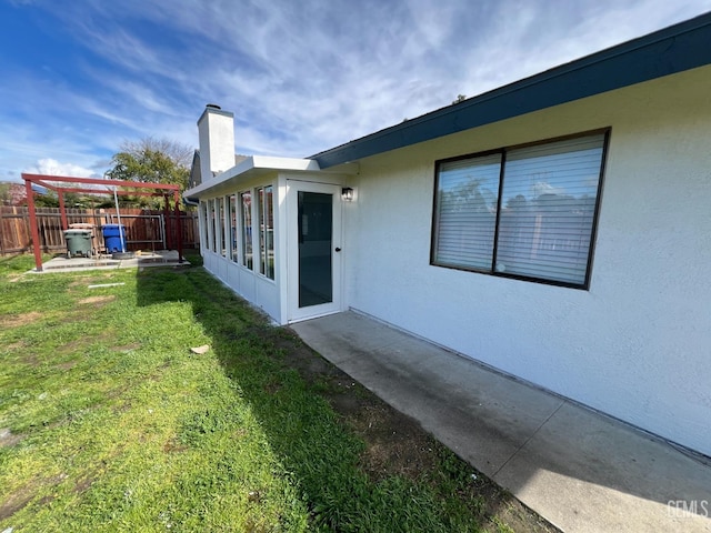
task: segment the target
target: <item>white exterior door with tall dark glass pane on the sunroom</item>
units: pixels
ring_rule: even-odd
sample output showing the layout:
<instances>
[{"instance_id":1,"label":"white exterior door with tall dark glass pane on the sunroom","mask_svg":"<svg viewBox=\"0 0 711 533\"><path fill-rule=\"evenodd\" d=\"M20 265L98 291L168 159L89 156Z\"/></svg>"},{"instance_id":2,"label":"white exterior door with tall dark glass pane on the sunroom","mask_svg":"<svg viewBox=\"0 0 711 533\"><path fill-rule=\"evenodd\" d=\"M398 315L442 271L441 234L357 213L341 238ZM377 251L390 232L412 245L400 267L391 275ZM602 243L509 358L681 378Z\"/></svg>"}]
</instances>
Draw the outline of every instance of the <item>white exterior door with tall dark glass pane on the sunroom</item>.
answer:
<instances>
[{"instance_id":1,"label":"white exterior door with tall dark glass pane on the sunroom","mask_svg":"<svg viewBox=\"0 0 711 533\"><path fill-rule=\"evenodd\" d=\"M341 311L340 191L287 181L289 322Z\"/></svg>"}]
</instances>

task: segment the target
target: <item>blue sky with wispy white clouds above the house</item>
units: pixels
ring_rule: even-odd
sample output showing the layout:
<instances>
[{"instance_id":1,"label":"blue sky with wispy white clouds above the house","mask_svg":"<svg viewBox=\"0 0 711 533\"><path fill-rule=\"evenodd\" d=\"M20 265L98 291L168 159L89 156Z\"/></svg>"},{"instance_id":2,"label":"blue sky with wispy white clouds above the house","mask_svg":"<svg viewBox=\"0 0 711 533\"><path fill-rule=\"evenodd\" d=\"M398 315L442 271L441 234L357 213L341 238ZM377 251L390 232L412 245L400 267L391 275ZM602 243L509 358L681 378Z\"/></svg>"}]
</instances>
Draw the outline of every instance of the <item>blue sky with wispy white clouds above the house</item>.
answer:
<instances>
[{"instance_id":1,"label":"blue sky with wispy white clouds above the house","mask_svg":"<svg viewBox=\"0 0 711 533\"><path fill-rule=\"evenodd\" d=\"M307 157L711 11L711 0L0 0L0 181L122 141Z\"/></svg>"}]
</instances>

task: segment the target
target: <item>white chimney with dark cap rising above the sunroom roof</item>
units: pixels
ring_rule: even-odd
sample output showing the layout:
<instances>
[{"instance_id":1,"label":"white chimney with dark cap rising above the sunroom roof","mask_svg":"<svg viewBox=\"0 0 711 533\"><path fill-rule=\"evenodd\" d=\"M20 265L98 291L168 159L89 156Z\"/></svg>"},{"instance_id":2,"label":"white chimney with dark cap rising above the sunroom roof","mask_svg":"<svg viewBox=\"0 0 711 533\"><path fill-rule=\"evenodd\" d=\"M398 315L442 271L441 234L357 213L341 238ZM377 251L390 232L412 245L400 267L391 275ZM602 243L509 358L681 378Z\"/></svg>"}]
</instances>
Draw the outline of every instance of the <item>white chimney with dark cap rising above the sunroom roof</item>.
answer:
<instances>
[{"instance_id":1,"label":"white chimney with dark cap rising above the sunroom roof","mask_svg":"<svg viewBox=\"0 0 711 533\"><path fill-rule=\"evenodd\" d=\"M234 113L206 105L198 120L202 182L234 167Z\"/></svg>"}]
</instances>

